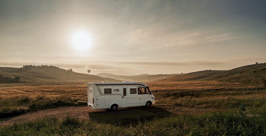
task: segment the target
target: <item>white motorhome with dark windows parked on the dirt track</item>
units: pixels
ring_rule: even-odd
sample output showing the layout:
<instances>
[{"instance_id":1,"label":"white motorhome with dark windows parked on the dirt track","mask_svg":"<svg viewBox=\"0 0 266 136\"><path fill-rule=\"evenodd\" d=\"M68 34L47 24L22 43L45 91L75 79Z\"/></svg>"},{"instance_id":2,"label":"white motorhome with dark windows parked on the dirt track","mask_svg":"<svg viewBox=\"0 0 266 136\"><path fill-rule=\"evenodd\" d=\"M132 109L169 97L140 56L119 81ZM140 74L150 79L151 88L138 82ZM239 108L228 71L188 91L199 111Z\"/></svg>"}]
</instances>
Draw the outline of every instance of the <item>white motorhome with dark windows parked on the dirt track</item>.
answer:
<instances>
[{"instance_id":1,"label":"white motorhome with dark windows parked on the dirt track","mask_svg":"<svg viewBox=\"0 0 266 136\"><path fill-rule=\"evenodd\" d=\"M88 83L88 107L111 109L151 106L155 98L143 82L94 82Z\"/></svg>"}]
</instances>

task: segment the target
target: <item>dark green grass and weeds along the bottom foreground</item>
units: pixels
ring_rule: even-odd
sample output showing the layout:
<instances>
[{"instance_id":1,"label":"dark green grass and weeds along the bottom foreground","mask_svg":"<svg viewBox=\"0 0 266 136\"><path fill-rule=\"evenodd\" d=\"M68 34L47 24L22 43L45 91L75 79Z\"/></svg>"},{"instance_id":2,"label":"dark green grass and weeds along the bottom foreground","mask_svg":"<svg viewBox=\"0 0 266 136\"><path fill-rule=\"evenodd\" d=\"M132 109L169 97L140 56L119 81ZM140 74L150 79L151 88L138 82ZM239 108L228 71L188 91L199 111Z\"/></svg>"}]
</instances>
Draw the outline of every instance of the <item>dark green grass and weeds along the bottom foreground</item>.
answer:
<instances>
[{"instance_id":1,"label":"dark green grass and weeds along the bottom foreground","mask_svg":"<svg viewBox=\"0 0 266 136\"><path fill-rule=\"evenodd\" d=\"M172 115L136 125L118 125L81 121L67 116L1 126L0 135L265 135L266 109L247 114L217 112L202 115Z\"/></svg>"}]
</instances>

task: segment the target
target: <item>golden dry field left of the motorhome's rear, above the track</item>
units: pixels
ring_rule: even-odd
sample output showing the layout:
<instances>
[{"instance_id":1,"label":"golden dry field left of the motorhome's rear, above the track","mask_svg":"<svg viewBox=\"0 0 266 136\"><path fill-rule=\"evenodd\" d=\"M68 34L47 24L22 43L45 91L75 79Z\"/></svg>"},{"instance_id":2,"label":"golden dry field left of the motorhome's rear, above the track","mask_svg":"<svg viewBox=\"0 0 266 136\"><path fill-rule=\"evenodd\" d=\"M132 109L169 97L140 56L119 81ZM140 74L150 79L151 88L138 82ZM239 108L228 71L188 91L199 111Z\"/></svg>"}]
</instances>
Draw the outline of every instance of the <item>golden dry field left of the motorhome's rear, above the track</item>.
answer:
<instances>
[{"instance_id":1,"label":"golden dry field left of the motorhome's rear, above the track","mask_svg":"<svg viewBox=\"0 0 266 136\"><path fill-rule=\"evenodd\" d=\"M85 85L1 87L0 117L11 117L57 106L87 104L85 88Z\"/></svg>"}]
</instances>

